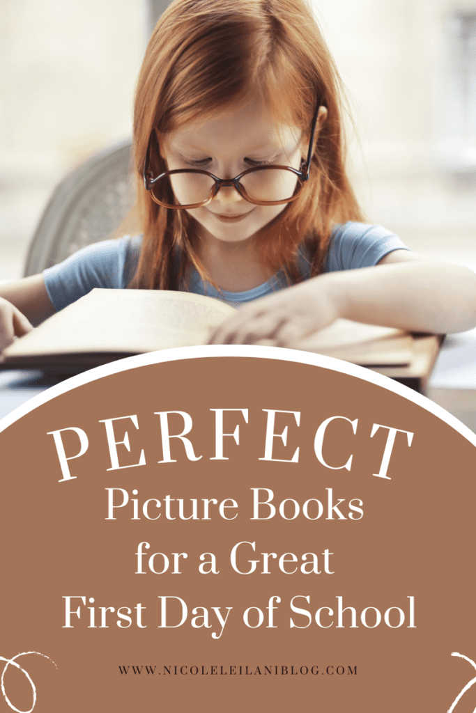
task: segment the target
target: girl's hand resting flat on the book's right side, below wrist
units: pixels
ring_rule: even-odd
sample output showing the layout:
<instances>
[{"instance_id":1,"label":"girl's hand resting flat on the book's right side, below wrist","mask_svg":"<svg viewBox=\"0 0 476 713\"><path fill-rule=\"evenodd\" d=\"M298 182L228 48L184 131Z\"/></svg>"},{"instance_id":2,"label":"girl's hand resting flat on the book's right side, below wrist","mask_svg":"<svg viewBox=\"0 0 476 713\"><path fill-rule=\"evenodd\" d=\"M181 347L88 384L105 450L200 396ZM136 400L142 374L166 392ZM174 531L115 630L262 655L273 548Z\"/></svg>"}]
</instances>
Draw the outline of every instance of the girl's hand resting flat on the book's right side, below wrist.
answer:
<instances>
[{"instance_id":1,"label":"girl's hand resting flat on the book's right side, below wrist","mask_svg":"<svg viewBox=\"0 0 476 713\"><path fill-rule=\"evenodd\" d=\"M340 317L327 284L315 277L245 304L216 329L209 343L294 346Z\"/></svg>"}]
</instances>

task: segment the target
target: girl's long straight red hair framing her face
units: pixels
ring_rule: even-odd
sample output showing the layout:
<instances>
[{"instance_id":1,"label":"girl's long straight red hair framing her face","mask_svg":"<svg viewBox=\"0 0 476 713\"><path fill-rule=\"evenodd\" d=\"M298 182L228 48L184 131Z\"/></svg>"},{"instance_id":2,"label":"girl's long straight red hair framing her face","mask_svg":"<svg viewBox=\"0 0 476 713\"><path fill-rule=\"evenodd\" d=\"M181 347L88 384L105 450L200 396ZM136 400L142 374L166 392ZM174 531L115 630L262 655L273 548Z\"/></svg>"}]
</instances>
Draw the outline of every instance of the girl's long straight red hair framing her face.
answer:
<instances>
[{"instance_id":1,"label":"girl's long straight red hair framing her face","mask_svg":"<svg viewBox=\"0 0 476 713\"><path fill-rule=\"evenodd\" d=\"M196 221L186 211L157 205L143 186L151 132L165 135L206 120L256 93L278 124L297 125L303 135L309 135L316 102L328 109L310 180L255 235L265 270L271 275L283 269L300 279L298 246L305 243L317 275L333 224L363 220L345 173L340 78L306 1L173 0L148 43L136 89L133 157L143 244L131 287L178 289L189 265L208 279L198 257ZM151 168L155 175L166 170L158 151Z\"/></svg>"}]
</instances>

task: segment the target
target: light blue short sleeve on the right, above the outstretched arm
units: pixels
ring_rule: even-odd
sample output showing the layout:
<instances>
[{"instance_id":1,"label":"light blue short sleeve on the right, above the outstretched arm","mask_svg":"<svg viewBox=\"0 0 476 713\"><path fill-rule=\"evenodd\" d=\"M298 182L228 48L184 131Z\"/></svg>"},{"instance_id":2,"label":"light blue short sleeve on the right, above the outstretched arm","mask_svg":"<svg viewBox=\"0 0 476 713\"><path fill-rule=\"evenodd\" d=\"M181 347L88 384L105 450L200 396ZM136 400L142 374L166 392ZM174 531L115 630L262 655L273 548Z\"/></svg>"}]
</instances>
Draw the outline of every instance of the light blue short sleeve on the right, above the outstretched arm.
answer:
<instances>
[{"instance_id":1,"label":"light blue short sleeve on the right, above the outstretched arm","mask_svg":"<svg viewBox=\"0 0 476 713\"><path fill-rule=\"evenodd\" d=\"M395 233L380 225L349 221L333 230L325 272L373 267L393 250L408 250Z\"/></svg>"}]
</instances>

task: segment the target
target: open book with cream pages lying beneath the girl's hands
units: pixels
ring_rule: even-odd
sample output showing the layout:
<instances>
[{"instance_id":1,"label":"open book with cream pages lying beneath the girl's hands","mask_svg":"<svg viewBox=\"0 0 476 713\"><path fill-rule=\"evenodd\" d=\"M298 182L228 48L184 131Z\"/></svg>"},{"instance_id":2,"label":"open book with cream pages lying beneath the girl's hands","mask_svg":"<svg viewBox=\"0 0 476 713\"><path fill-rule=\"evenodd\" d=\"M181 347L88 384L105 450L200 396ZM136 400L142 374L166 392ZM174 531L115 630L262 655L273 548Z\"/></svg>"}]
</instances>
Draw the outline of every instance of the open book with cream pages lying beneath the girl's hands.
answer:
<instances>
[{"instance_id":1,"label":"open book with cream pages lying beneath the girl's hands","mask_svg":"<svg viewBox=\"0 0 476 713\"><path fill-rule=\"evenodd\" d=\"M124 356L206 344L235 308L213 297L148 289L93 289L2 352L9 369L84 371ZM400 329L338 319L293 347L366 366L409 364Z\"/></svg>"}]
</instances>

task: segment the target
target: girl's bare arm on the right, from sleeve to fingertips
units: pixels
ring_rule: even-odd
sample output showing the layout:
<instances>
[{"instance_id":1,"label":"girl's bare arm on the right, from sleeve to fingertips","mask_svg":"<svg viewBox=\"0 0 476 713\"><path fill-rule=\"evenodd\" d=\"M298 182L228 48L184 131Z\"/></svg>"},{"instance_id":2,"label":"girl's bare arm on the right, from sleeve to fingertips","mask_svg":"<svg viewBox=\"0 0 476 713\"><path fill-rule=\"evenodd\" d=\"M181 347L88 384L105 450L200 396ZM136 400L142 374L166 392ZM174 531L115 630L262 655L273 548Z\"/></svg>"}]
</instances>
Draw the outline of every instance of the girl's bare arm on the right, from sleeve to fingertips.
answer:
<instances>
[{"instance_id":1,"label":"girl's bare arm on the right, from sleeve to fingertips","mask_svg":"<svg viewBox=\"0 0 476 713\"><path fill-rule=\"evenodd\" d=\"M476 326L476 275L395 250L375 267L327 272L246 304L211 343L293 346L338 317L412 332L464 332Z\"/></svg>"}]
</instances>

